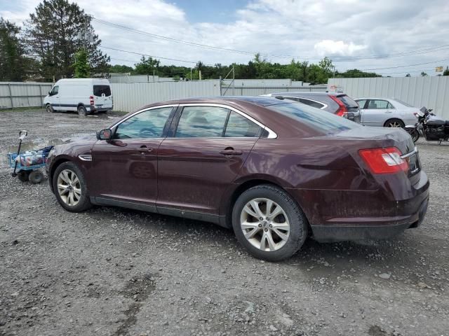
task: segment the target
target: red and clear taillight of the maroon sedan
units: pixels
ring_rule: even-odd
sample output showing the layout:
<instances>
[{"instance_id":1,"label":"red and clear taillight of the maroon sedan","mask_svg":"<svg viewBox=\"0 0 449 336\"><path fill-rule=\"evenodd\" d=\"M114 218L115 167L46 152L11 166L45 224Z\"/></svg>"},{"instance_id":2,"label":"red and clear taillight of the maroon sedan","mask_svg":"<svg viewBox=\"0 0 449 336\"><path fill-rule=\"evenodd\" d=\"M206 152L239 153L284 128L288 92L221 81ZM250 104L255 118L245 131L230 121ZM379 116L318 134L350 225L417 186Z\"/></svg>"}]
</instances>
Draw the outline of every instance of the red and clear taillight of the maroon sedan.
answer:
<instances>
[{"instance_id":1,"label":"red and clear taillight of the maroon sedan","mask_svg":"<svg viewBox=\"0 0 449 336\"><path fill-rule=\"evenodd\" d=\"M401 158L401 152L396 147L361 149L358 153L373 174L408 171L408 162Z\"/></svg>"}]
</instances>

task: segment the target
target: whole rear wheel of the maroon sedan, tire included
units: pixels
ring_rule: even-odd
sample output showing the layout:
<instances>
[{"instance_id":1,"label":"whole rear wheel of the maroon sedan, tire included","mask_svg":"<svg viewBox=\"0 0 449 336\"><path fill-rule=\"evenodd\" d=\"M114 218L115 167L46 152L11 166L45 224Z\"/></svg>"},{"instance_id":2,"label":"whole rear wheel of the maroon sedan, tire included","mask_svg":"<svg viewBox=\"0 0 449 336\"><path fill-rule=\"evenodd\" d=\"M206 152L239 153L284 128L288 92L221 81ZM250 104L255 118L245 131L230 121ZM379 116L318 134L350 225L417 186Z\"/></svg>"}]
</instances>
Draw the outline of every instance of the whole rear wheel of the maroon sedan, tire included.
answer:
<instances>
[{"instance_id":1,"label":"whole rear wheel of the maroon sedan, tire included","mask_svg":"<svg viewBox=\"0 0 449 336\"><path fill-rule=\"evenodd\" d=\"M302 210L284 190L270 185L255 186L239 196L232 226L251 255L268 261L290 258L307 238Z\"/></svg>"}]
</instances>

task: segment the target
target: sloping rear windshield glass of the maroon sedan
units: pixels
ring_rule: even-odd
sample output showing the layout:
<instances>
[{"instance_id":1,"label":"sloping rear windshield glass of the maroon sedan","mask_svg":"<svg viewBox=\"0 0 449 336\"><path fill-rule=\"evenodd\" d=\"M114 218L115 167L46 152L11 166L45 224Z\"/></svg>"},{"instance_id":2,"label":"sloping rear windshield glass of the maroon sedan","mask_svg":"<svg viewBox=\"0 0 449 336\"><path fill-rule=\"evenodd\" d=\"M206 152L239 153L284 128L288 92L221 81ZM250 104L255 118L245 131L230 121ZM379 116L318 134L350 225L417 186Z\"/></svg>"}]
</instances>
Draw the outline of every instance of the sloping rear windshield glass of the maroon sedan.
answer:
<instances>
[{"instance_id":1,"label":"sloping rear windshield glass of the maroon sedan","mask_svg":"<svg viewBox=\"0 0 449 336\"><path fill-rule=\"evenodd\" d=\"M314 107L304 104L276 104L267 106L267 108L282 113L300 123L304 123L312 129L318 132L323 132L324 134L335 134L361 127L354 123L354 121L335 116L333 113L315 109Z\"/></svg>"}]
</instances>

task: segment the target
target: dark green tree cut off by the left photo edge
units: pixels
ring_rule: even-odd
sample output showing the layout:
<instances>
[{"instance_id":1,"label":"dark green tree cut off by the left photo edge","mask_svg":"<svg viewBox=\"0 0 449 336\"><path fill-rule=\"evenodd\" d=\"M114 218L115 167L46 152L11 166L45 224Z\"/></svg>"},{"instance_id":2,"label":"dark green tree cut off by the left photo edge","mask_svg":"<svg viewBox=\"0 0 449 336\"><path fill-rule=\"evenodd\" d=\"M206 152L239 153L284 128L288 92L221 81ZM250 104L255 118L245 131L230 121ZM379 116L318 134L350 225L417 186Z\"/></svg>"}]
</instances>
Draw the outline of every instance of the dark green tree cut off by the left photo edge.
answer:
<instances>
[{"instance_id":1,"label":"dark green tree cut off by the left photo edge","mask_svg":"<svg viewBox=\"0 0 449 336\"><path fill-rule=\"evenodd\" d=\"M32 59L25 57L20 28L0 18L0 80L15 81L27 78Z\"/></svg>"}]
</instances>

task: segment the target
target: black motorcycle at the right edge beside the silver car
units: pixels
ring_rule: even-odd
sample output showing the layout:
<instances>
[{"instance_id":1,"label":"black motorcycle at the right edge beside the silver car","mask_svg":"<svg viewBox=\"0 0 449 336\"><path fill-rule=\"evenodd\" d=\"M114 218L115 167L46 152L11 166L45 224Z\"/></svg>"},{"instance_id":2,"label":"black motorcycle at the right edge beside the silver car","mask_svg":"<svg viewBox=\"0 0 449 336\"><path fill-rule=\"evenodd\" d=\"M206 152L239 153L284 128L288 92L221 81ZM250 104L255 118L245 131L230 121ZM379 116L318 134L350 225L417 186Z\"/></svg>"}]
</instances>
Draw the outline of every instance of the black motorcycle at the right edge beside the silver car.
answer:
<instances>
[{"instance_id":1,"label":"black motorcycle at the right edge beside the silver car","mask_svg":"<svg viewBox=\"0 0 449 336\"><path fill-rule=\"evenodd\" d=\"M449 139L449 120L442 120L431 113L432 109L422 106L417 113L417 123L415 125L406 125L405 130L410 134L413 142L420 139L420 134L424 135L426 141L448 141Z\"/></svg>"}]
</instances>

